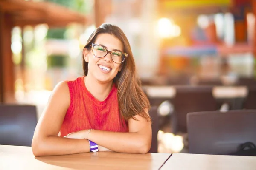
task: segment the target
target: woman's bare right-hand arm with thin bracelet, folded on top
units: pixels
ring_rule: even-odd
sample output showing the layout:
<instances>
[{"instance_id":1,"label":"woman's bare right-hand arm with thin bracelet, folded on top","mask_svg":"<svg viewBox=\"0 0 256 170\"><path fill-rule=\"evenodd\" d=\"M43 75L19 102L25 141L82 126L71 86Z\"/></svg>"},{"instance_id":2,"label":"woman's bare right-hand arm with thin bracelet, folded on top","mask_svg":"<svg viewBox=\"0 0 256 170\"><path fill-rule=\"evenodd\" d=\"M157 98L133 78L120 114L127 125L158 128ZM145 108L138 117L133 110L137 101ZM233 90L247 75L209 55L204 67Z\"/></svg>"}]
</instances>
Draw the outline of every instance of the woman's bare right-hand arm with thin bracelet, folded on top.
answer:
<instances>
[{"instance_id":1,"label":"woman's bare right-hand arm with thin bracelet, folded on top","mask_svg":"<svg viewBox=\"0 0 256 170\"><path fill-rule=\"evenodd\" d=\"M89 139L110 150L122 153L147 153L151 147L151 124L137 115L137 120L129 119L129 132L109 132L103 130L81 130L67 135L67 138Z\"/></svg>"}]
</instances>

